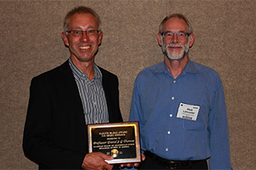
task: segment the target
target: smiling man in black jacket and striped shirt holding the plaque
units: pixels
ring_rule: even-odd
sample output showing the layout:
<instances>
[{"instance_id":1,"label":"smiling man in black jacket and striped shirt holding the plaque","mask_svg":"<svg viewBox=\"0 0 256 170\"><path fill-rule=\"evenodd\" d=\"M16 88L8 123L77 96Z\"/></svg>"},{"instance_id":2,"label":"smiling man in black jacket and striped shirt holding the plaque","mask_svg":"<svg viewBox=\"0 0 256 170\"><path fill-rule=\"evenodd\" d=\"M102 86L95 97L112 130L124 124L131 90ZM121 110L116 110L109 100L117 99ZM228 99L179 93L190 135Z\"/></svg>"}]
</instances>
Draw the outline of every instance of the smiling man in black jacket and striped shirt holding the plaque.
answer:
<instances>
[{"instance_id":1,"label":"smiling man in black jacket and striped shirt holding the plaque","mask_svg":"<svg viewBox=\"0 0 256 170\"><path fill-rule=\"evenodd\" d=\"M88 153L86 124L122 122L118 77L95 64L101 20L74 8L62 32L70 58L32 79L24 129L25 155L39 169L112 169L112 156Z\"/></svg>"}]
</instances>

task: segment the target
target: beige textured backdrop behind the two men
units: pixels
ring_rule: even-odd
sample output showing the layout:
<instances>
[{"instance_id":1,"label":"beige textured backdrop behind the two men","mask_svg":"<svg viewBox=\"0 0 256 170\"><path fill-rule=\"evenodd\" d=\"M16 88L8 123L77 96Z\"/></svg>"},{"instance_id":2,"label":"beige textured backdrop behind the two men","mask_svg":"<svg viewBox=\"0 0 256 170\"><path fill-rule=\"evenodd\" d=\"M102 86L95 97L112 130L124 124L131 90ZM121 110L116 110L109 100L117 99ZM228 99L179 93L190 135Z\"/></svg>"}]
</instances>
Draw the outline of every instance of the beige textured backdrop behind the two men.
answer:
<instances>
[{"instance_id":1,"label":"beige textured backdrop behind the two men","mask_svg":"<svg viewBox=\"0 0 256 170\"><path fill-rule=\"evenodd\" d=\"M255 169L255 0L0 0L0 169L38 168L21 147L30 81L68 59L62 21L79 5L102 18L96 64L119 77L125 121L137 73L163 60L160 21L185 14L195 30L190 59L218 71L224 84L232 167Z\"/></svg>"}]
</instances>

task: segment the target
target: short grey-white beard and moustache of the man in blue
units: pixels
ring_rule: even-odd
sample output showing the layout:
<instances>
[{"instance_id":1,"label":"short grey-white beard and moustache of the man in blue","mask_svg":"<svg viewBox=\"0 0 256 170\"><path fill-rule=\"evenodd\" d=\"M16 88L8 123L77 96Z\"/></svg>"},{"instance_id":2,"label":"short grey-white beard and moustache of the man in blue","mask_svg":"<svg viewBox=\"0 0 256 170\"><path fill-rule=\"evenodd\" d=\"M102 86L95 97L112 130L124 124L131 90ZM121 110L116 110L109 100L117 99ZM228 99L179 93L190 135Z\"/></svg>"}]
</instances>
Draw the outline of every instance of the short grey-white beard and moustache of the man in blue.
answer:
<instances>
[{"instance_id":1,"label":"short grey-white beard and moustache of the man in blue","mask_svg":"<svg viewBox=\"0 0 256 170\"><path fill-rule=\"evenodd\" d=\"M190 37L189 37L190 40ZM162 42L162 51L164 54L166 54L166 56L168 57L168 59L172 59L172 60L178 60L178 59L183 59L183 57L189 53L189 40L188 43L186 45L181 45L181 44L173 44L173 43L168 43L165 44L163 41L163 37L161 38L161 42ZM182 48L182 51L168 51L167 48L170 47L180 47Z\"/></svg>"}]
</instances>

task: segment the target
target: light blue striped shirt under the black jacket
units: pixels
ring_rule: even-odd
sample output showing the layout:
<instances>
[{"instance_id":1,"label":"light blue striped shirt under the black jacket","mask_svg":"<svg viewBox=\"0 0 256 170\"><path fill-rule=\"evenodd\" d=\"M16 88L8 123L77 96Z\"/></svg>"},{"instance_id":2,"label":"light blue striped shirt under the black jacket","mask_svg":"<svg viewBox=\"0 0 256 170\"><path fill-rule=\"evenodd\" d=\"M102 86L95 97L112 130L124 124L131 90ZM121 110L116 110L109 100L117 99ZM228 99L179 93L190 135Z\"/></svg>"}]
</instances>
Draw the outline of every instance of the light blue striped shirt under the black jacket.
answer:
<instances>
[{"instance_id":1,"label":"light blue striped shirt under the black jacket","mask_svg":"<svg viewBox=\"0 0 256 170\"><path fill-rule=\"evenodd\" d=\"M102 87L102 73L93 65L95 77L91 82L89 78L73 64L69 58L69 65L73 71L73 77L79 88L80 98L84 107L84 118L86 124L108 122L108 107L105 93Z\"/></svg>"}]
</instances>

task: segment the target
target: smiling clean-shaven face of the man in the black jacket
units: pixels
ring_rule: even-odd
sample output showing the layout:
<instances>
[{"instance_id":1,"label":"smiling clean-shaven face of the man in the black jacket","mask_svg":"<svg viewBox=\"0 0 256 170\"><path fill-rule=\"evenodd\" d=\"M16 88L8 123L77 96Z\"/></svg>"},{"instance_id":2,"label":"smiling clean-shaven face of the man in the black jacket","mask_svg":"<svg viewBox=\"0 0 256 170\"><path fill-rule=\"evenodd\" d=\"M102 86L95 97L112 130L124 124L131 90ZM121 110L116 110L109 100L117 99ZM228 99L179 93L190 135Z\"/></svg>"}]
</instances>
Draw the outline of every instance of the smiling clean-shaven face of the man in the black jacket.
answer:
<instances>
[{"instance_id":1,"label":"smiling clean-shaven face of the man in the black jacket","mask_svg":"<svg viewBox=\"0 0 256 170\"><path fill-rule=\"evenodd\" d=\"M98 30L96 18L92 14L73 14L67 23L67 31ZM96 52L102 42L102 32L96 35L87 35L83 32L75 37L72 33L62 32L62 39L69 48L74 64L82 62L94 62Z\"/></svg>"}]
</instances>

